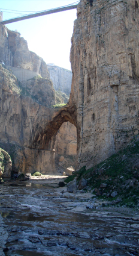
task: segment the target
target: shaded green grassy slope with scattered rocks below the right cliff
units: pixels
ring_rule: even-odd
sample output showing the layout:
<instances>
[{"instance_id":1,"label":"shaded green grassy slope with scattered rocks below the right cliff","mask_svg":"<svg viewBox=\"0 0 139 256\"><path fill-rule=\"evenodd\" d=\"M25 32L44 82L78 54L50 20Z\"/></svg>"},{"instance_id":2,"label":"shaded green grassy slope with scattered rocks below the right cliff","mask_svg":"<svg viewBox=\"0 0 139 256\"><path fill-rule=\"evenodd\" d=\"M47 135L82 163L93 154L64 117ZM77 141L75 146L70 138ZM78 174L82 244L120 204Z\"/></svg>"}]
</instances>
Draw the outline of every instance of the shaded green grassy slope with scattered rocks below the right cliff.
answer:
<instances>
[{"instance_id":1,"label":"shaded green grassy slope with scattered rocks below the right cliff","mask_svg":"<svg viewBox=\"0 0 139 256\"><path fill-rule=\"evenodd\" d=\"M86 170L82 167L74 172L65 182L69 182L77 176L87 180L88 186L101 199L109 201L120 198L120 205L134 207L139 203L139 141L136 137L131 144L105 161ZM101 184L107 184L101 187ZM117 192L115 198L111 193Z\"/></svg>"}]
</instances>

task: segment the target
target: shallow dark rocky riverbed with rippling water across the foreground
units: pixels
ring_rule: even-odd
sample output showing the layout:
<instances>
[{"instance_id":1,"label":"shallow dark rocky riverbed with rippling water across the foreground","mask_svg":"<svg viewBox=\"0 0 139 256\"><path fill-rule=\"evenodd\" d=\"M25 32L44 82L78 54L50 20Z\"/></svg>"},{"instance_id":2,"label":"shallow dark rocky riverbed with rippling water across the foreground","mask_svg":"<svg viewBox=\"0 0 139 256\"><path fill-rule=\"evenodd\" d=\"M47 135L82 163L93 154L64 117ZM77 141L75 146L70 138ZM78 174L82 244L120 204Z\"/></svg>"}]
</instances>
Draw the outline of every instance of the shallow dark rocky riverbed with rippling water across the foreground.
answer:
<instances>
[{"instance_id":1,"label":"shallow dark rocky riverbed with rippling water across the foreground","mask_svg":"<svg viewBox=\"0 0 139 256\"><path fill-rule=\"evenodd\" d=\"M61 176L0 186L0 255L139 255L139 211L68 193Z\"/></svg>"}]
</instances>

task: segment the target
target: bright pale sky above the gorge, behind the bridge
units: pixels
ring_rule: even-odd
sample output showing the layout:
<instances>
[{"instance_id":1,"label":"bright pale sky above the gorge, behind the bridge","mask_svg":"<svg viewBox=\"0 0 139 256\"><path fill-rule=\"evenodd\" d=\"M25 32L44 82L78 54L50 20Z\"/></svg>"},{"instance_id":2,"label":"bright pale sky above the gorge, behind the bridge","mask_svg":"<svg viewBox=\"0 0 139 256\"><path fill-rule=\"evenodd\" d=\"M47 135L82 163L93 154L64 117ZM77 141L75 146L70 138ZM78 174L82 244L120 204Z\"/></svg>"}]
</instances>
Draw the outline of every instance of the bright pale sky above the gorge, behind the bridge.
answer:
<instances>
[{"instance_id":1,"label":"bright pale sky above the gorge, behind the bridge","mask_svg":"<svg viewBox=\"0 0 139 256\"><path fill-rule=\"evenodd\" d=\"M75 2L78 3L77 0L1 0L0 10L3 11L6 20ZM28 42L29 50L42 57L47 64L54 63L56 66L71 70L71 37L76 18L77 10L74 9L5 26L9 30L17 30Z\"/></svg>"}]
</instances>

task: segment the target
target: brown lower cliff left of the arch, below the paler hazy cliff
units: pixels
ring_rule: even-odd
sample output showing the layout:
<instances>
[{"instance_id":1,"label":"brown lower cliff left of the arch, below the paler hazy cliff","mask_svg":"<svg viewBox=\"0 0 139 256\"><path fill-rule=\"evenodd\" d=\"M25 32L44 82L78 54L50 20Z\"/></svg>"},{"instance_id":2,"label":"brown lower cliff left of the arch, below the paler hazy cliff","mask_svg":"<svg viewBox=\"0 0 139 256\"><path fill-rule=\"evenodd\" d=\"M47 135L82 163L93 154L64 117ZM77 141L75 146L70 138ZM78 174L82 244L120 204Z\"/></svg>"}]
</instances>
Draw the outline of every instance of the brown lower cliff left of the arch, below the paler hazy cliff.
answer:
<instances>
[{"instance_id":1,"label":"brown lower cliff left of the arch, below the paler hazy cliff","mask_svg":"<svg viewBox=\"0 0 139 256\"><path fill-rule=\"evenodd\" d=\"M25 87L19 86L16 76L0 65L0 145L11 155L16 172L55 172L53 151L31 149L35 130L45 128L55 113L50 108L55 104L52 82L43 78L39 81L46 98L44 105L38 104L43 102L43 96L35 87L36 80L28 81L33 83L28 86L29 94Z\"/></svg>"}]
</instances>

